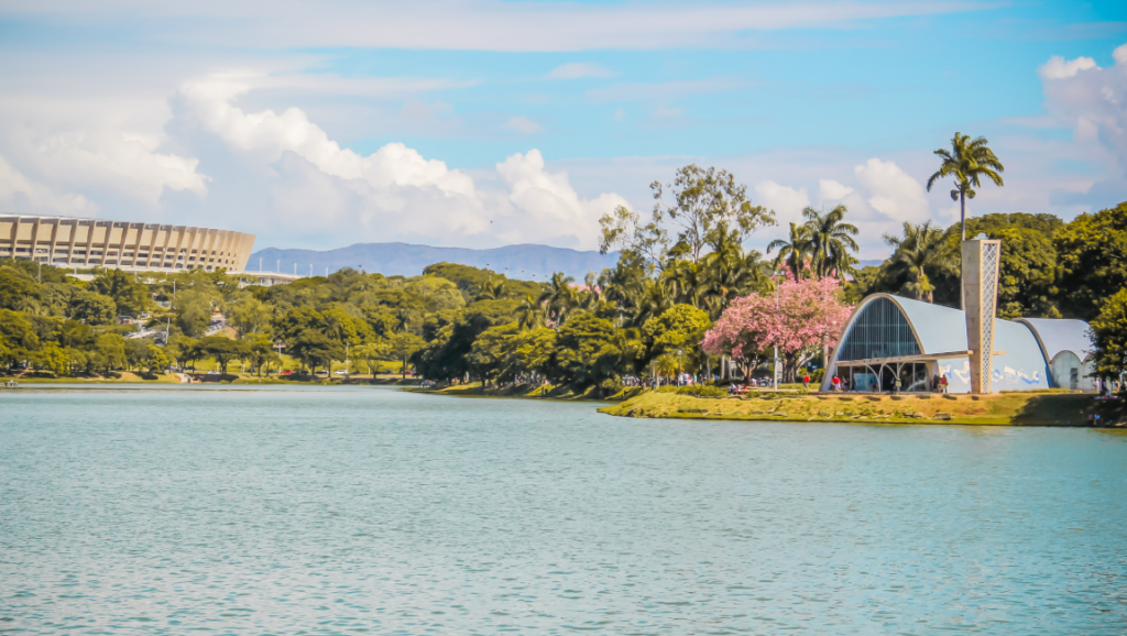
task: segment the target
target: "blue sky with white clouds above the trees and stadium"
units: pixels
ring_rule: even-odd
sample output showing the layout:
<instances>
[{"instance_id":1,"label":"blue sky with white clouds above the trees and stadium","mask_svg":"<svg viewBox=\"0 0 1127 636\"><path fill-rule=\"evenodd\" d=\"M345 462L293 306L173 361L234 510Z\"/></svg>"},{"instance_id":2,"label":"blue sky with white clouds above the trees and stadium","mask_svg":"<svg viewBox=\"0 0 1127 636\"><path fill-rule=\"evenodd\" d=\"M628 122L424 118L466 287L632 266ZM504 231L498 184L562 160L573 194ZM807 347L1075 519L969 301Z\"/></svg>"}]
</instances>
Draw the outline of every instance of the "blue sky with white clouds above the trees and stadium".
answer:
<instances>
[{"instance_id":1,"label":"blue sky with white clouds above the trees and stadium","mask_svg":"<svg viewBox=\"0 0 1127 636\"><path fill-rule=\"evenodd\" d=\"M715 166L778 226L845 204L860 257L958 220L932 153L983 135L968 214L1127 200L1127 3L0 0L0 212L265 247L596 249Z\"/></svg>"}]
</instances>

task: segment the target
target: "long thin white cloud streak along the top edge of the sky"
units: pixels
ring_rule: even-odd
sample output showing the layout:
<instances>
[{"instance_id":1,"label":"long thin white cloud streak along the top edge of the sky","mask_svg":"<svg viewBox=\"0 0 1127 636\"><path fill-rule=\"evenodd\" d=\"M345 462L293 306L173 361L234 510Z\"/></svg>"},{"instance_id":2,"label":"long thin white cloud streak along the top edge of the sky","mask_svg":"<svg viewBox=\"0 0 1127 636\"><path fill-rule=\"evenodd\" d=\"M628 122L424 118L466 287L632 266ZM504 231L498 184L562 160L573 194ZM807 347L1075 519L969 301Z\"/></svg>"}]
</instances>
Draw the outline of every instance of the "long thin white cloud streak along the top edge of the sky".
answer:
<instances>
[{"instance_id":1,"label":"long thin white cloud streak along the top edge of the sky","mask_svg":"<svg viewBox=\"0 0 1127 636\"><path fill-rule=\"evenodd\" d=\"M112 24L142 17L144 34L166 42L206 39L216 46L294 50L383 47L405 50L584 51L746 46L747 30L848 27L859 20L975 11L967 0L876 0L801 3L612 3L432 0L325 0L286 6L249 0L188 5L122 0L5 6L0 17L63 24Z\"/></svg>"}]
</instances>

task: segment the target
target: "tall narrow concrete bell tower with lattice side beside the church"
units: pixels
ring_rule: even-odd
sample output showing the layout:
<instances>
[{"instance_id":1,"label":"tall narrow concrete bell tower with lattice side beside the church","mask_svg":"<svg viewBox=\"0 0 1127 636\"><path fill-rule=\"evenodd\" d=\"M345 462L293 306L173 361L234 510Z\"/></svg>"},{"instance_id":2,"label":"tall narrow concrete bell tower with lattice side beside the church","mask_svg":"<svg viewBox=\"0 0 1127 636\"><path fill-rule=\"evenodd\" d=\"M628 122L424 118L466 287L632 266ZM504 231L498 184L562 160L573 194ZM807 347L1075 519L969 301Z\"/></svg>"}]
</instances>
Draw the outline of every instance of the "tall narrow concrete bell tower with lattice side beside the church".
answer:
<instances>
[{"instance_id":1,"label":"tall narrow concrete bell tower with lattice side beside the church","mask_svg":"<svg viewBox=\"0 0 1127 636\"><path fill-rule=\"evenodd\" d=\"M990 392L1001 257L1002 241L990 240L986 235L962 241L962 309L967 317L971 394Z\"/></svg>"}]
</instances>

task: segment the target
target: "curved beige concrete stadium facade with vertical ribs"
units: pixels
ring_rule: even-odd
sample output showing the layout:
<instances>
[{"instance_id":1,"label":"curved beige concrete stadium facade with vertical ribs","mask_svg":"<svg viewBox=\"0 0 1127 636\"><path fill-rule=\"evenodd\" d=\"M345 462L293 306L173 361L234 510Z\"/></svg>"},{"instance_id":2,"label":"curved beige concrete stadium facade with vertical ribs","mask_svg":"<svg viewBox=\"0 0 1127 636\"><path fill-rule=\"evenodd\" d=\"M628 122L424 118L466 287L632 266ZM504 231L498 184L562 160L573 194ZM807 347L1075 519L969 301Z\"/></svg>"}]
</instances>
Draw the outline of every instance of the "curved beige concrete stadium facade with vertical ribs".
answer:
<instances>
[{"instance_id":1,"label":"curved beige concrete stadium facade with vertical ribs","mask_svg":"<svg viewBox=\"0 0 1127 636\"><path fill-rule=\"evenodd\" d=\"M0 214L0 258L60 267L243 272L255 235L103 219Z\"/></svg>"}]
</instances>

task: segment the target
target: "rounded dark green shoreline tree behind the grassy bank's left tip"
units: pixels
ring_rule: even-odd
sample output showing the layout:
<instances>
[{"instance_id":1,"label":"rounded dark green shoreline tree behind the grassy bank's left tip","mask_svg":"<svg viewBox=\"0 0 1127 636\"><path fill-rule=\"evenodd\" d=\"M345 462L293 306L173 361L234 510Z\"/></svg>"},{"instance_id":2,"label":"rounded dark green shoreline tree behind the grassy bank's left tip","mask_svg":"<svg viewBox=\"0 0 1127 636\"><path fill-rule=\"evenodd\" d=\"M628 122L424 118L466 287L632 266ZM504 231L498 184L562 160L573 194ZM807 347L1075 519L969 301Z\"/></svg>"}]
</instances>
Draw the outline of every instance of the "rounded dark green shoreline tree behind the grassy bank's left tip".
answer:
<instances>
[{"instance_id":1,"label":"rounded dark green shoreline tree behind the grassy bank's left tip","mask_svg":"<svg viewBox=\"0 0 1127 636\"><path fill-rule=\"evenodd\" d=\"M592 313L579 313L559 328L549 373L556 383L576 390L618 376L622 351L614 346L614 326Z\"/></svg>"}]
</instances>

